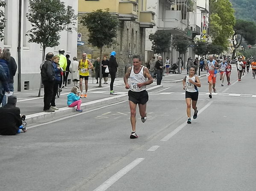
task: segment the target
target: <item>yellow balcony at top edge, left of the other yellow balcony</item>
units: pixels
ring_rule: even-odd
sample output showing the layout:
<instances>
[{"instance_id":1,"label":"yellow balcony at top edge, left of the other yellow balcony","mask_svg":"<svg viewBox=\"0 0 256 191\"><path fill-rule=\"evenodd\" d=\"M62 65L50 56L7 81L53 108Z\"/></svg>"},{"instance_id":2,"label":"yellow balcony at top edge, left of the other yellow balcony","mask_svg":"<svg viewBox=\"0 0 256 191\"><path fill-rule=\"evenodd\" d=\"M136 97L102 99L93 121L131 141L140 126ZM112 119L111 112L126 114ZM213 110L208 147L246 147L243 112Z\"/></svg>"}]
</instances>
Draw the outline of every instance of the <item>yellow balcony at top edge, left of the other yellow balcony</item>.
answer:
<instances>
[{"instance_id":1,"label":"yellow balcony at top edge, left of the other yellow balcony","mask_svg":"<svg viewBox=\"0 0 256 191\"><path fill-rule=\"evenodd\" d=\"M129 1L119 1L119 20L134 21L138 19L138 3Z\"/></svg>"}]
</instances>

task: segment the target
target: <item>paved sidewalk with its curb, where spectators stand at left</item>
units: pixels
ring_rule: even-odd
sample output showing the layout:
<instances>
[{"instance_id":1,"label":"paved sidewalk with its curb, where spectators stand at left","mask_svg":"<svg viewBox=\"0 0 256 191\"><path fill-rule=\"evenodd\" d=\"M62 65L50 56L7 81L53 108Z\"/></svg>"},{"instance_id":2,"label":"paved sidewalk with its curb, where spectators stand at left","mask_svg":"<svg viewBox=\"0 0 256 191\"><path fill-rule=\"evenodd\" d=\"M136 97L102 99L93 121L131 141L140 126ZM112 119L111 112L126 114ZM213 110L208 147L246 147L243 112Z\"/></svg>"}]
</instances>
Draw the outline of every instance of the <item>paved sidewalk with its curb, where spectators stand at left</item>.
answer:
<instances>
[{"instance_id":1,"label":"paved sidewalk with its curb, where spectators stand at left","mask_svg":"<svg viewBox=\"0 0 256 191\"><path fill-rule=\"evenodd\" d=\"M181 82L185 74L186 73L184 71L183 74L165 74L162 83ZM205 72L203 72L203 74L205 74ZM110 80L108 81L108 84L102 83L102 88L98 87L99 84L96 84L95 79L93 79L93 82L94 83L92 83L92 78L90 77L88 81L88 97L82 98L82 109L95 108L128 99L128 90L124 87L123 78L115 79L114 91L117 93L117 95L109 94ZM39 123L41 121L50 121L58 117L65 117L70 114L76 114L75 108L68 108L67 106L67 95L70 93L72 87L72 85L68 85L67 89L62 89L60 97L56 98L56 107L59 108L59 110L53 113L47 113L43 111L44 89L41 90L41 97L37 97L38 90L25 90L21 92L15 92L14 95L18 98L17 107L20 108L21 114L26 115L26 121L28 124L33 124ZM83 88L84 87L85 85L83 83ZM162 87L163 85L156 86L156 80L154 80L152 84L147 86L147 90L150 92Z\"/></svg>"}]
</instances>

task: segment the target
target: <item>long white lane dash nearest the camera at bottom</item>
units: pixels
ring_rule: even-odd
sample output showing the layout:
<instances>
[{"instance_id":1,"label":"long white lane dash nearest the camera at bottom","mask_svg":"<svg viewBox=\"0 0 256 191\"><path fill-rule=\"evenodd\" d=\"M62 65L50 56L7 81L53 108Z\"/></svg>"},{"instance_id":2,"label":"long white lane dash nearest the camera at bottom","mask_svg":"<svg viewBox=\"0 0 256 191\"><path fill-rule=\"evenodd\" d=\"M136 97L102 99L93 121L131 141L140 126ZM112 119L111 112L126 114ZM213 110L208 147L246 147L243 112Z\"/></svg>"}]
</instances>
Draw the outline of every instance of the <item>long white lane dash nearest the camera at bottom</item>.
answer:
<instances>
[{"instance_id":1,"label":"long white lane dash nearest the camera at bottom","mask_svg":"<svg viewBox=\"0 0 256 191\"><path fill-rule=\"evenodd\" d=\"M93 191L105 191L110 186L112 186L116 181L118 181L121 177L123 177L125 174L127 174L127 172L132 170L132 168L134 168L139 163L141 163L143 160L144 160L144 158L137 158L137 159L135 159L129 165L127 165L124 168L122 168L120 171L118 171L116 174L114 174L108 180L103 182L102 185L100 185L98 188L94 189Z\"/></svg>"}]
</instances>

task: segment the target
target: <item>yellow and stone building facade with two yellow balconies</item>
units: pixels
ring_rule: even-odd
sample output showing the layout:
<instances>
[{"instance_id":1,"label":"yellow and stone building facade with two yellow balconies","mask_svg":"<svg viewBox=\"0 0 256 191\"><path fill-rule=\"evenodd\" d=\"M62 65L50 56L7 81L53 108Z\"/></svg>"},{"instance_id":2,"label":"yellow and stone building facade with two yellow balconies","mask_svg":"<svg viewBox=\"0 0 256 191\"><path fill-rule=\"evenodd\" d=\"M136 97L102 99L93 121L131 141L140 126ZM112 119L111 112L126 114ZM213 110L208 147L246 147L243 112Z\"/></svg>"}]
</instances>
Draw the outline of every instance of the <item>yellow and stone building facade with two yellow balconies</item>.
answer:
<instances>
[{"instance_id":1,"label":"yellow and stone building facade with two yellow balconies","mask_svg":"<svg viewBox=\"0 0 256 191\"><path fill-rule=\"evenodd\" d=\"M91 53L91 60L100 57L100 50L88 44L88 30L80 21L92 10L108 8L111 14L117 15L120 27L112 47L103 47L103 55L109 57L112 51L116 51L119 65L118 77L124 76L126 68L131 66L133 54L140 54L141 61L144 63L145 29L155 26L155 13L146 11L147 0L78 0L78 5L78 34L81 33L79 40L82 41L77 46L78 58L81 58L82 52Z\"/></svg>"}]
</instances>

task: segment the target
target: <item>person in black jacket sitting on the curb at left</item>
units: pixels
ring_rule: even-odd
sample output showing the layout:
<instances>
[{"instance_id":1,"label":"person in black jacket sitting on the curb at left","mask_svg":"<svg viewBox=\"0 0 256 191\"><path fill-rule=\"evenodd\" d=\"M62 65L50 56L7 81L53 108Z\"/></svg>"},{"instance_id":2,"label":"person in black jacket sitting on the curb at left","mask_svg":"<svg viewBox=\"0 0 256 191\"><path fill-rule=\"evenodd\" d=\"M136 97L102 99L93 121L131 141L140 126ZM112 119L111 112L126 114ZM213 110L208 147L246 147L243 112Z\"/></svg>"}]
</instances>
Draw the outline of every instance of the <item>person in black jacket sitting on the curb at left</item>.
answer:
<instances>
[{"instance_id":1,"label":"person in black jacket sitting on the curb at left","mask_svg":"<svg viewBox=\"0 0 256 191\"><path fill-rule=\"evenodd\" d=\"M17 97L9 96L5 106L0 108L0 134L15 135L20 129L26 132L26 122L22 122L20 108L16 107ZM23 116L24 117L24 116Z\"/></svg>"}]
</instances>

